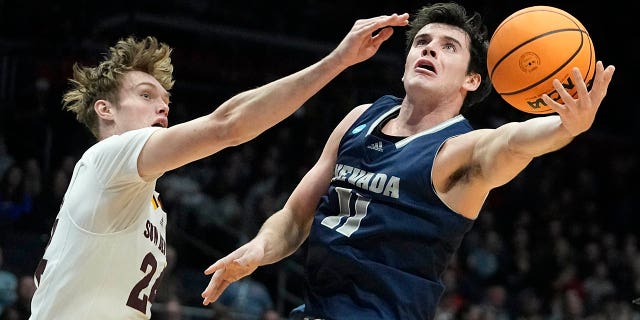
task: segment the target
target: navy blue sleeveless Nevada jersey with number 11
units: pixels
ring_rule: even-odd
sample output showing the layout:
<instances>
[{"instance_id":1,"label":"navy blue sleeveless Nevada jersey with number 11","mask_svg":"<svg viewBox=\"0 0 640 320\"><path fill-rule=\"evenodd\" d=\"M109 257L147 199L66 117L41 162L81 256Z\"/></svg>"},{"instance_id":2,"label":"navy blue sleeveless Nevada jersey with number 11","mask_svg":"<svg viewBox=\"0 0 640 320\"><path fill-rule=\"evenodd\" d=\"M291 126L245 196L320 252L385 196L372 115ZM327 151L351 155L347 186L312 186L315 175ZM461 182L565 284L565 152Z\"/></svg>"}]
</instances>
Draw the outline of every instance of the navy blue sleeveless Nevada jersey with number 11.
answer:
<instances>
[{"instance_id":1,"label":"navy blue sleeveless Nevada jersey with number 11","mask_svg":"<svg viewBox=\"0 0 640 320\"><path fill-rule=\"evenodd\" d=\"M305 313L325 319L432 319L442 273L473 225L435 194L442 143L472 130L457 116L393 141L376 133L401 99L383 96L340 142L334 177L304 247Z\"/></svg>"}]
</instances>

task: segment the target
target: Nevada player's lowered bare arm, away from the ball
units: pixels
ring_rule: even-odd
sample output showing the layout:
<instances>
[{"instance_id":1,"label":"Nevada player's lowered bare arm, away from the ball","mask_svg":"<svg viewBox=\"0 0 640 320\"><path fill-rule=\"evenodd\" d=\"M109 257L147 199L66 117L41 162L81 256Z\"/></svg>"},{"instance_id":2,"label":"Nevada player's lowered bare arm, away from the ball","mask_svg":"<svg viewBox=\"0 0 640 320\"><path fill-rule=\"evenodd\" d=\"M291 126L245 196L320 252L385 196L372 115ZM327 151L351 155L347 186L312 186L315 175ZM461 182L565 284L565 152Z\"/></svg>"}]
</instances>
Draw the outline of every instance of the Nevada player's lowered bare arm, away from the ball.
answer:
<instances>
[{"instance_id":1,"label":"Nevada player's lowered bare arm, away from the ball","mask_svg":"<svg viewBox=\"0 0 640 320\"><path fill-rule=\"evenodd\" d=\"M205 270L205 274L213 276L202 293L204 305L217 300L231 282L251 274L259 266L282 260L305 241L316 206L333 177L340 139L368 106L353 109L334 129L318 162L302 178L284 207L265 221L256 237Z\"/></svg>"}]
</instances>

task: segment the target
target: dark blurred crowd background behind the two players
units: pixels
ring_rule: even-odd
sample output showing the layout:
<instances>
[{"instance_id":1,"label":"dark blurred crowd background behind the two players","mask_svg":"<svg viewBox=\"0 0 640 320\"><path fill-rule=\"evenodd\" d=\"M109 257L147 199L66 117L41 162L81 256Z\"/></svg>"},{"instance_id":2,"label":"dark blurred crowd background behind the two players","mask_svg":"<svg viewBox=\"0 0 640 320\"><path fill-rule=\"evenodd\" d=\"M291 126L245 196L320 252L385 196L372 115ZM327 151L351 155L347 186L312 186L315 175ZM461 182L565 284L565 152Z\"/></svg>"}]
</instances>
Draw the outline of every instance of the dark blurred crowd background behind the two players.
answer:
<instances>
[{"instance_id":1,"label":"dark blurred crowd background behind the two players","mask_svg":"<svg viewBox=\"0 0 640 320\"><path fill-rule=\"evenodd\" d=\"M176 124L316 62L356 19L413 13L426 3L0 0L0 270L29 286L73 165L95 142L61 108L74 62L93 65L129 35L168 43L176 79L170 120ZM640 32L633 12L621 1L461 3L480 12L490 30L527 6L568 11L589 31L597 59L617 70L590 131L535 159L490 195L445 275L439 319L637 319L630 303L640 296L639 106L630 88L631 73L639 71L631 48ZM160 179L176 255L154 307L158 318L253 319L248 310L265 308L286 317L301 303L297 254L251 277L266 297L232 296L213 308L199 304L208 282L202 270L253 237L282 206L351 108L404 94L404 41L404 30L396 29L374 58L342 73L289 119ZM495 93L465 115L477 127L532 117ZM9 294L5 305L18 303L17 296Z\"/></svg>"}]
</instances>

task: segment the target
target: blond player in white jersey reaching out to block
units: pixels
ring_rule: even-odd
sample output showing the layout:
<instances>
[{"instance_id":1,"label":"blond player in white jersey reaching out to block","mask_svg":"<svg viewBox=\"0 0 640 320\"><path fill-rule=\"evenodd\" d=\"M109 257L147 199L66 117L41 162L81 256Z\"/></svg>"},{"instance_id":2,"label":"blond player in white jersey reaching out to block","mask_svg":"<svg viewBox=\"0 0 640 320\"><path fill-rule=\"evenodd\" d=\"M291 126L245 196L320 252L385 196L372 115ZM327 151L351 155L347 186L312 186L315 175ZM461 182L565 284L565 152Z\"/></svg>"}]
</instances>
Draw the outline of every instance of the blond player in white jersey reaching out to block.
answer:
<instances>
[{"instance_id":1,"label":"blond player in white jersey reaching out to block","mask_svg":"<svg viewBox=\"0 0 640 320\"><path fill-rule=\"evenodd\" d=\"M127 38L97 66L75 65L64 106L98 142L75 166L35 274L31 319L149 319L167 264L167 214L156 180L285 119L344 69L373 56L407 19L358 20L319 62L173 127L166 44Z\"/></svg>"}]
</instances>

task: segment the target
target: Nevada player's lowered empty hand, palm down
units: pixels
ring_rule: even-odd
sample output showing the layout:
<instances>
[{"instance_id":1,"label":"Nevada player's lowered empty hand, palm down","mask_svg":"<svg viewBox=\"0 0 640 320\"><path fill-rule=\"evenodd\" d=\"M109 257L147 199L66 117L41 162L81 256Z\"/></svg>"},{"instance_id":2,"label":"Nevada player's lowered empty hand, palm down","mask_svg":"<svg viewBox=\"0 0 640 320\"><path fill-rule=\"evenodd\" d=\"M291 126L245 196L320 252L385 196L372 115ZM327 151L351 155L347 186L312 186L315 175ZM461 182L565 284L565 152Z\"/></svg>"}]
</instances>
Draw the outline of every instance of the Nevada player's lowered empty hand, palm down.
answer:
<instances>
[{"instance_id":1,"label":"Nevada player's lowered empty hand, palm down","mask_svg":"<svg viewBox=\"0 0 640 320\"><path fill-rule=\"evenodd\" d=\"M211 275L209 285L202 292L203 305L218 300L222 292L234 281L253 273L264 257L264 249L255 239L216 261L204 271Z\"/></svg>"}]
</instances>

